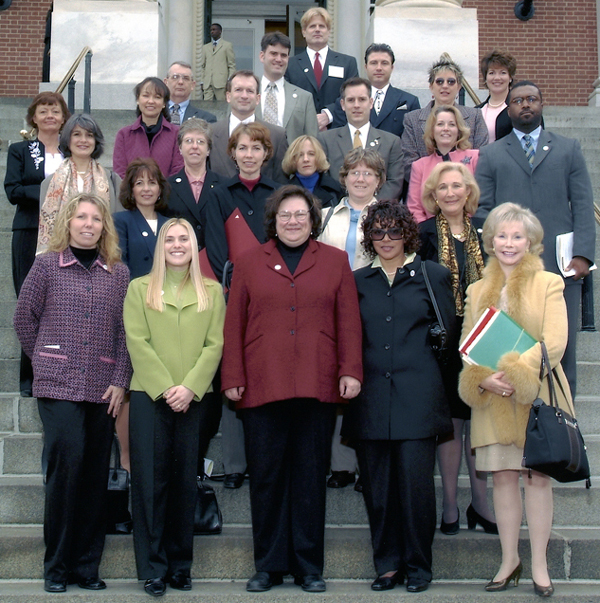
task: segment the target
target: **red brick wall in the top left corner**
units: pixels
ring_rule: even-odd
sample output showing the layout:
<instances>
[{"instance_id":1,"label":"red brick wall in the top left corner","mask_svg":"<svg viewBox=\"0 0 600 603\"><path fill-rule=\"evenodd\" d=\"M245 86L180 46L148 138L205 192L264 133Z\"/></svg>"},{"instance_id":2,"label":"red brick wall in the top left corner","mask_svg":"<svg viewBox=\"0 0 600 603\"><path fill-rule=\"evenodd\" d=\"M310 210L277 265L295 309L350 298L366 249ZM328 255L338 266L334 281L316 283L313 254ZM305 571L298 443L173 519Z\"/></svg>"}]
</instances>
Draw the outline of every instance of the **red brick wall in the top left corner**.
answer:
<instances>
[{"instance_id":1,"label":"red brick wall in the top left corner","mask_svg":"<svg viewBox=\"0 0 600 603\"><path fill-rule=\"evenodd\" d=\"M52 0L13 0L0 12L0 96L38 93L51 5Z\"/></svg>"}]
</instances>

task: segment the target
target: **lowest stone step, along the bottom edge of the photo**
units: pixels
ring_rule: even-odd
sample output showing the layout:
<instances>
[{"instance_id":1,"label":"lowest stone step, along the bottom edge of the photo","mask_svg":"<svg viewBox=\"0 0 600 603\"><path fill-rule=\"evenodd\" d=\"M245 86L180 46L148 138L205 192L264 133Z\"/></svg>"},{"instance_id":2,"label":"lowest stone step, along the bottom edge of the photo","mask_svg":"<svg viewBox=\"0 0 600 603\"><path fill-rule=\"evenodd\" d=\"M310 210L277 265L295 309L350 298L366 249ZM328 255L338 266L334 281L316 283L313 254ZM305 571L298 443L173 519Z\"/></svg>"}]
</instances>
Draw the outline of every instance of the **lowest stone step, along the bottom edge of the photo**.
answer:
<instances>
[{"instance_id":1,"label":"lowest stone step, along the bottom edge of the photo","mask_svg":"<svg viewBox=\"0 0 600 603\"><path fill-rule=\"evenodd\" d=\"M246 579L249 576L246 577ZM434 580L429 590L421 595L407 593L403 587L392 591L374 594L369 584L374 576L367 580L329 580L327 592L317 595L319 601L327 603L372 603L373 600L385 603L392 601L432 601L435 603L480 603L495 602L499 597L510 603L531 603L533 586L531 581L522 580L519 588L511 588L502 595L486 593L483 581L445 582ZM168 600L173 603L240 603L254 600L254 595L245 591L246 579L243 580L194 580L191 592L178 592L168 589ZM485 581L489 579L486 578ZM22 582L0 582L0 592L3 603L55 603L57 595L45 593L41 581L26 580ZM580 581L554 581L555 592L553 601L561 603L596 603L600 601L598 585ZM301 591L294 586L288 577L281 586L271 591L256 595L266 603L314 603L315 595ZM70 586L67 593L59 596L61 603L113 602L137 603L147 602L148 595L142 589L141 583L134 580L111 580L108 589L96 593L81 591L76 586Z\"/></svg>"}]
</instances>

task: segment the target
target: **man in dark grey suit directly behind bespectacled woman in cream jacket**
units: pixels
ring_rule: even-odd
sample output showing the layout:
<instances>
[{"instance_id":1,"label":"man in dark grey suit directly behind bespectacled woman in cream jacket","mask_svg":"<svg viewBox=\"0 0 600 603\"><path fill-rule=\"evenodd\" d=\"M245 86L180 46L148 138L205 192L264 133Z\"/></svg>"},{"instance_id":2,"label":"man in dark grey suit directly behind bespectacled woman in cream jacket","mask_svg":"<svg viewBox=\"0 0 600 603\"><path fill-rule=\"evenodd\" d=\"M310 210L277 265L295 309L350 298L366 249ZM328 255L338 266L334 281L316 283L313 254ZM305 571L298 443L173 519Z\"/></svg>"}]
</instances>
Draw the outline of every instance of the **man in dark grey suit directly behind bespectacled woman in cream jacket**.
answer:
<instances>
[{"instance_id":1,"label":"man in dark grey suit directly behind bespectacled woman in cream jacket","mask_svg":"<svg viewBox=\"0 0 600 603\"><path fill-rule=\"evenodd\" d=\"M356 146L377 151L386 163L386 181L378 193L380 199L398 199L404 181L404 159L400 138L377 130L369 123L373 99L371 83L360 77L346 80L341 88L341 105L348 124L319 132L319 141L330 163L330 175L339 180L344 157Z\"/></svg>"}]
</instances>

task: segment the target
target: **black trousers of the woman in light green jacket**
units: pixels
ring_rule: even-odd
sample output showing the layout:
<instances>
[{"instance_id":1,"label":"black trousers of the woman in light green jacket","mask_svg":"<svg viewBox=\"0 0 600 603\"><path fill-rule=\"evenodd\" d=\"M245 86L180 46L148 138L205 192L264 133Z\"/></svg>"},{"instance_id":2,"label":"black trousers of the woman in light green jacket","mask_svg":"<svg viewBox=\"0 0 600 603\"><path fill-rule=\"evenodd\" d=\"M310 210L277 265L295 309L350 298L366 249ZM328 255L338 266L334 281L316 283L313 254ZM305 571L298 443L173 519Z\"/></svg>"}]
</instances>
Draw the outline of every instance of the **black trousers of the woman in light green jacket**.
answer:
<instances>
[{"instance_id":1,"label":"black trousers of the woman in light green jacket","mask_svg":"<svg viewBox=\"0 0 600 603\"><path fill-rule=\"evenodd\" d=\"M131 392L129 453L133 544L138 578L190 575L200 405L173 412L163 400Z\"/></svg>"}]
</instances>

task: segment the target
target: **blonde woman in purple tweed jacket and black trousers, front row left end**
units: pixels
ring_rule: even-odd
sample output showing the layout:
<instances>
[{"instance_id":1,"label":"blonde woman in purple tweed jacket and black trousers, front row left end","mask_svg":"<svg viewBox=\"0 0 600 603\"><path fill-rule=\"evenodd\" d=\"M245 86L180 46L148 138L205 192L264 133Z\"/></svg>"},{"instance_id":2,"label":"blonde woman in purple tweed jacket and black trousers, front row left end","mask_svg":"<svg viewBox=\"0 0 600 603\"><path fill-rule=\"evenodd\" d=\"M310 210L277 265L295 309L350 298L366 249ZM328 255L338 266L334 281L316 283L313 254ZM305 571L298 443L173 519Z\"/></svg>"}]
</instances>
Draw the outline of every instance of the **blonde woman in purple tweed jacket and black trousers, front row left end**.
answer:
<instances>
[{"instance_id":1,"label":"blonde woman in purple tweed jacket and black trousers, front row left end","mask_svg":"<svg viewBox=\"0 0 600 603\"><path fill-rule=\"evenodd\" d=\"M62 208L48 251L35 259L14 326L33 364L44 425L44 589L101 590L106 476L114 417L131 377L120 261L108 205L81 194Z\"/></svg>"}]
</instances>

